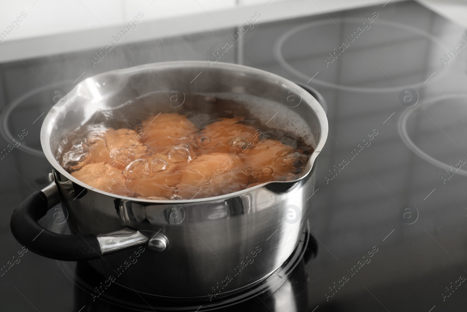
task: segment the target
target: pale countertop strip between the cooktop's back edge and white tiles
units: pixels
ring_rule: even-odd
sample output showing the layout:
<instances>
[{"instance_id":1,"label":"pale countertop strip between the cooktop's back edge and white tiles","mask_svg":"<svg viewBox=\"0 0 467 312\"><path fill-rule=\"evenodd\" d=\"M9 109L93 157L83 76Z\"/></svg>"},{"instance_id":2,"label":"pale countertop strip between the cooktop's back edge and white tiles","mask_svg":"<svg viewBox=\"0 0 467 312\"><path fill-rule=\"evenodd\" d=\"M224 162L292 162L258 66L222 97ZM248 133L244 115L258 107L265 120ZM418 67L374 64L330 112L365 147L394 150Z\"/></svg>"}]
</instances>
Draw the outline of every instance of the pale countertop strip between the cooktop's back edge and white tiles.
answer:
<instances>
[{"instance_id":1,"label":"pale countertop strip between the cooktop's back edge and white tiles","mask_svg":"<svg viewBox=\"0 0 467 312\"><path fill-rule=\"evenodd\" d=\"M390 0L390 2L398 1L402 0ZM90 49L96 49L97 52L100 48L107 46L111 40L114 44L119 45L226 29L244 24L255 12L261 14L261 17L255 22L256 25L265 22L320 15L323 11L331 13L358 7L383 5L386 2L387 0L334 0L323 4L320 3L318 7L309 0L290 0L273 1L267 7L265 4L261 4L210 12L209 14L216 21L220 22L222 26L219 26L206 13L159 20L146 21L142 19L138 23L137 28L130 30L119 43L112 36L123 29L125 25L6 40L0 43L0 62L20 61L19 58L24 61L30 58L47 57ZM91 57L92 55L90 55Z\"/></svg>"}]
</instances>

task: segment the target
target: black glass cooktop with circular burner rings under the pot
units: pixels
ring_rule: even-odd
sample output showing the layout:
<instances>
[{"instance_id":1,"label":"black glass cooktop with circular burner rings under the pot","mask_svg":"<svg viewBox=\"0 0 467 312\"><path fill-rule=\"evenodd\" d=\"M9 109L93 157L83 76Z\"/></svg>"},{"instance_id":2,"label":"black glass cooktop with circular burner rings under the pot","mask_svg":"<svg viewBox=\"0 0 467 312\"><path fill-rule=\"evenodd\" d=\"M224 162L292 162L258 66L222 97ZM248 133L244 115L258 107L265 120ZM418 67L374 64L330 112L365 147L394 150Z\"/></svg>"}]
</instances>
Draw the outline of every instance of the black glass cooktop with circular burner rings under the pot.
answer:
<instances>
[{"instance_id":1,"label":"black glass cooktop with circular burner rings under the pot","mask_svg":"<svg viewBox=\"0 0 467 312\"><path fill-rule=\"evenodd\" d=\"M32 123L31 150L0 160L0 311L466 311L467 36L437 12L389 2L245 36L245 65L324 96L329 134L295 256L220 303L160 303L118 285L93 300L99 273L87 263L25 251L9 218L51 171L34 152L42 119ZM66 231L65 219L57 207L41 222Z\"/></svg>"}]
</instances>

